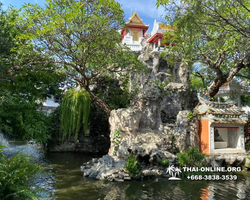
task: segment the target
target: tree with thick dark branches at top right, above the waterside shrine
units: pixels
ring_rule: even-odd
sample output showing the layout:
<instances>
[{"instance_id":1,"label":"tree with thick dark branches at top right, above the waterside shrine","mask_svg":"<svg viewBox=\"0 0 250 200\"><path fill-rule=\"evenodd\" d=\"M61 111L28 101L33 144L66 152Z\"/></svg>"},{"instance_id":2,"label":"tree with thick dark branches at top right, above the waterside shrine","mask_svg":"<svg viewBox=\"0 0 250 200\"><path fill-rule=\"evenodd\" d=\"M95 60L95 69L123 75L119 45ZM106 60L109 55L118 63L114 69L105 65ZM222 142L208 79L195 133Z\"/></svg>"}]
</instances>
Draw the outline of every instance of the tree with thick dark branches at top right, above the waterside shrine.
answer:
<instances>
[{"instance_id":1,"label":"tree with thick dark branches at top right, above the waterside shrine","mask_svg":"<svg viewBox=\"0 0 250 200\"><path fill-rule=\"evenodd\" d=\"M175 31L165 34L174 43L172 61L203 63L214 75L209 95L250 68L250 3L248 0L158 0ZM210 71L209 71L210 70Z\"/></svg>"}]
</instances>

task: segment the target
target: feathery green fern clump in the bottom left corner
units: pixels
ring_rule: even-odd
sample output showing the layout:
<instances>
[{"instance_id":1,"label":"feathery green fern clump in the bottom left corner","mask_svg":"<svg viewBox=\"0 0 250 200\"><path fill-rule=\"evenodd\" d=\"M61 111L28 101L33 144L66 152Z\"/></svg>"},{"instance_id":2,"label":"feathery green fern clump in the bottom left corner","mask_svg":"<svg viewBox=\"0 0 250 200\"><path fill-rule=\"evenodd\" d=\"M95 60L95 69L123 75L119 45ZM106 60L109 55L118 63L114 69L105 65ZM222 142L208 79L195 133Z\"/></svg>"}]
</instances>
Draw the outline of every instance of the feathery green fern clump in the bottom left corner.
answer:
<instances>
[{"instance_id":1,"label":"feathery green fern clump in the bottom left corner","mask_svg":"<svg viewBox=\"0 0 250 200\"><path fill-rule=\"evenodd\" d=\"M32 177L40 170L41 167L31 163L30 157L22 152L10 158L3 156L0 159L0 199L38 200L37 191L31 189L31 184Z\"/></svg>"}]
</instances>

